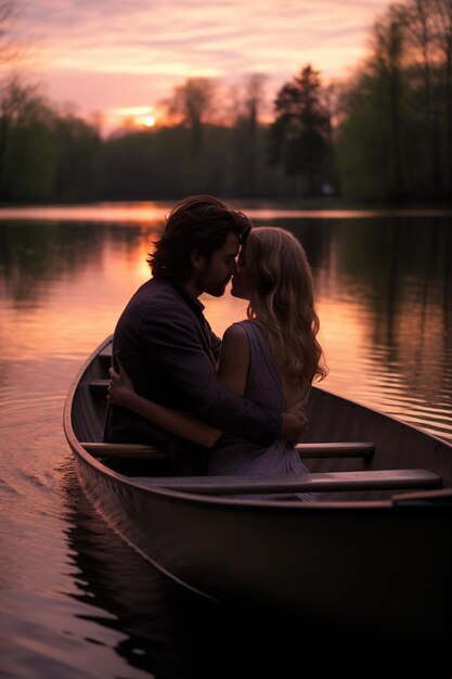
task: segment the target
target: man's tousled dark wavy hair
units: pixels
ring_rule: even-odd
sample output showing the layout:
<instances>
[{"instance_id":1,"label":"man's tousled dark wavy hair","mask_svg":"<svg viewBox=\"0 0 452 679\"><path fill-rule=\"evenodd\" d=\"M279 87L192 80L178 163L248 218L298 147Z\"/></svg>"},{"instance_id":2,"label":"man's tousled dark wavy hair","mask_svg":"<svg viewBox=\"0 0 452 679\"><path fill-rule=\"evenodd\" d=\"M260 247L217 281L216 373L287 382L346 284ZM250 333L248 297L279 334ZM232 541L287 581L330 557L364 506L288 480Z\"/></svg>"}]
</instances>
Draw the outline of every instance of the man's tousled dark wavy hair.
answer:
<instances>
[{"instance_id":1,"label":"man's tousled dark wavy hair","mask_svg":"<svg viewBox=\"0 0 452 679\"><path fill-rule=\"evenodd\" d=\"M224 245L228 233L235 233L242 243L250 228L246 215L229 209L214 196L186 198L171 209L162 238L147 257L153 277L183 283L193 272L193 252L208 259Z\"/></svg>"}]
</instances>

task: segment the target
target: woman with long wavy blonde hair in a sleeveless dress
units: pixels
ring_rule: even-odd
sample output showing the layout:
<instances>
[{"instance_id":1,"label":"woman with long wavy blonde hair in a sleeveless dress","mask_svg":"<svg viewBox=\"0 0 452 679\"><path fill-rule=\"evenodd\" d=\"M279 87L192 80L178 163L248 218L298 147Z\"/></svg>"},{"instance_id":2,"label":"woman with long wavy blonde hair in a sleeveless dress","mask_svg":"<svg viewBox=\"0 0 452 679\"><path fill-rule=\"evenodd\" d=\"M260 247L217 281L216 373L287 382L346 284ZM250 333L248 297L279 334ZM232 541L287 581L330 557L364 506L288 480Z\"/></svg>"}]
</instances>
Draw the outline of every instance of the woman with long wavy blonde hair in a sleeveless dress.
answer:
<instances>
[{"instance_id":1,"label":"woman with long wavy blonde hair in a sleeveless dress","mask_svg":"<svg viewBox=\"0 0 452 679\"><path fill-rule=\"evenodd\" d=\"M247 320L224 333L219 381L232 392L282 412L302 401L313 381L325 377L317 340L313 282L305 249L283 229L254 228L244 245L231 294L248 300ZM188 415L147 401L127 375L111 369L111 399L163 428L211 449L209 474L282 475L306 472L293 444L269 448L222 435ZM298 496L302 499L307 496Z\"/></svg>"}]
</instances>

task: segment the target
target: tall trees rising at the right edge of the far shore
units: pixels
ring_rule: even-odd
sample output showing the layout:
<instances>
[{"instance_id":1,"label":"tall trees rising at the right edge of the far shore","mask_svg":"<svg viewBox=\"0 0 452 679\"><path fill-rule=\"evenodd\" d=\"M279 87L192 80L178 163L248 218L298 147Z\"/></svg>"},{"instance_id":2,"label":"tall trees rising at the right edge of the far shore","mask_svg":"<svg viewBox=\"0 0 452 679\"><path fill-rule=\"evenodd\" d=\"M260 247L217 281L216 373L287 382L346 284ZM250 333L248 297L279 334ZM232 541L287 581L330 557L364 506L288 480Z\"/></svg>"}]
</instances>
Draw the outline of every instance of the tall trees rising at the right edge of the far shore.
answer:
<instances>
[{"instance_id":1,"label":"tall trees rising at the right edge of the far shore","mask_svg":"<svg viewBox=\"0 0 452 679\"><path fill-rule=\"evenodd\" d=\"M452 197L452 2L391 4L343 88L341 190L362 198Z\"/></svg>"}]
</instances>

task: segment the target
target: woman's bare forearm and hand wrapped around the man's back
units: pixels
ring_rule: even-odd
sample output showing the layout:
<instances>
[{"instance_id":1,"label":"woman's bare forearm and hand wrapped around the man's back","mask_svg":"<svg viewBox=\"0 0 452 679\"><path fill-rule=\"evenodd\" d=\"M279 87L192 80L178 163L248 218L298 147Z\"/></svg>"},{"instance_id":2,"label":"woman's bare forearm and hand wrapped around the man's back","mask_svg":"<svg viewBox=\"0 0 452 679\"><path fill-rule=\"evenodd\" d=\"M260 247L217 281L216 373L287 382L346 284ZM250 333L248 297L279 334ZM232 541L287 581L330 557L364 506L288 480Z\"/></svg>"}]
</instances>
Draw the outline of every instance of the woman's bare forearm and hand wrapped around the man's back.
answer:
<instances>
[{"instance_id":1,"label":"woman's bare forearm and hand wrapped around the man's back","mask_svg":"<svg viewBox=\"0 0 452 679\"><path fill-rule=\"evenodd\" d=\"M221 436L221 432L218 430L137 394L130 377L124 368L119 367L120 373L116 372L114 368L109 369L108 397L114 406L122 406L133 410L163 430L175 432L181 438L186 438L205 448L211 448Z\"/></svg>"}]
</instances>

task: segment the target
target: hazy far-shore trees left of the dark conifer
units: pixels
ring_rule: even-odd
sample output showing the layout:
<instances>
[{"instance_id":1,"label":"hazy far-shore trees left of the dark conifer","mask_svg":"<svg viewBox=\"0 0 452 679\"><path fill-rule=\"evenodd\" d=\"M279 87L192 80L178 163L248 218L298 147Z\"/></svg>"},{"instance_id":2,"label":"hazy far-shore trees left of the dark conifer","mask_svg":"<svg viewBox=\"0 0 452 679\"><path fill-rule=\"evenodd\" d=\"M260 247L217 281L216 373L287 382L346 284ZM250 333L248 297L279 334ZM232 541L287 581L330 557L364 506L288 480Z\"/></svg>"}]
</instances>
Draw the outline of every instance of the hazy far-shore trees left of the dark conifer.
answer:
<instances>
[{"instance_id":1,"label":"hazy far-shore trees left of the dark conifer","mask_svg":"<svg viewBox=\"0 0 452 679\"><path fill-rule=\"evenodd\" d=\"M204 82L186 84L194 97ZM190 87L190 92L189 92ZM190 105L185 101L185 105ZM298 176L269 165L268 125L237 115L212 123L209 108L151 130L99 129L61 114L33 88L10 82L0 103L0 200L138 201L209 192L238 197L299 195Z\"/></svg>"}]
</instances>

